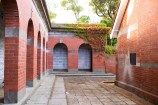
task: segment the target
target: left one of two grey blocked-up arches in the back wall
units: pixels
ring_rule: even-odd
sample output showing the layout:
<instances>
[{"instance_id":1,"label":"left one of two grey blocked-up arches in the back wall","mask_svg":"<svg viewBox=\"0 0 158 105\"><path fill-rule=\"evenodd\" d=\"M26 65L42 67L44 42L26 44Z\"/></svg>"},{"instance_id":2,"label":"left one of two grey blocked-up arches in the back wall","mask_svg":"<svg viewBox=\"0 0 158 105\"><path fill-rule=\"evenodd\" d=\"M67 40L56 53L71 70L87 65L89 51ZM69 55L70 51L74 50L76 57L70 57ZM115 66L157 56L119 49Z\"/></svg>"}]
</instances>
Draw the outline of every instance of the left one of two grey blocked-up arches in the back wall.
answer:
<instances>
[{"instance_id":1,"label":"left one of two grey blocked-up arches in the back wall","mask_svg":"<svg viewBox=\"0 0 158 105\"><path fill-rule=\"evenodd\" d=\"M68 49L63 43L55 45L53 50L53 70L67 71L68 70Z\"/></svg>"}]
</instances>

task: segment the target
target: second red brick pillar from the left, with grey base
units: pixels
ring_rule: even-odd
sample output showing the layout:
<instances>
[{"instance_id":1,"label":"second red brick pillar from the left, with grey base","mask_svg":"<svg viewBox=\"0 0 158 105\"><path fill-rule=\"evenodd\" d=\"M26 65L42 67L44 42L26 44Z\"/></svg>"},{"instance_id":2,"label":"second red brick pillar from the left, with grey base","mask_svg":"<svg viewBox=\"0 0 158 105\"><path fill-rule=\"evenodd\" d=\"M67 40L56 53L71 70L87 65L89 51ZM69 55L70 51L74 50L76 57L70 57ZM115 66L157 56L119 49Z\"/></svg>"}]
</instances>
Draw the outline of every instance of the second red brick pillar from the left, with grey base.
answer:
<instances>
[{"instance_id":1,"label":"second red brick pillar from the left, with grey base","mask_svg":"<svg viewBox=\"0 0 158 105\"><path fill-rule=\"evenodd\" d=\"M36 48L34 44L33 22L30 20L27 32L27 58L26 58L26 85L33 87L36 83L37 66L36 66Z\"/></svg>"}]
</instances>

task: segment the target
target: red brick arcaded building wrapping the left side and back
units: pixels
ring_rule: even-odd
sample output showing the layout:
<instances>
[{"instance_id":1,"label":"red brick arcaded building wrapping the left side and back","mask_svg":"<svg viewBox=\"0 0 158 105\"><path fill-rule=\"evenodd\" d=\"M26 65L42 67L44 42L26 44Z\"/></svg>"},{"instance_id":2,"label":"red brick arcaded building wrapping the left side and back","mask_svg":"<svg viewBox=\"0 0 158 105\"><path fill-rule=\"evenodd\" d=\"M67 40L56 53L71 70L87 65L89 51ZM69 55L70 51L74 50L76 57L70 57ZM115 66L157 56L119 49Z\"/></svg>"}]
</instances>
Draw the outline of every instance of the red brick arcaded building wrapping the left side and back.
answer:
<instances>
[{"instance_id":1,"label":"red brick arcaded building wrapping the left side and back","mask_svg":"<svg viewBox=\"0 0 158 105\"><path fill-rule=\"evenodd\" d=\"M35 87L48 70L105 72L103 52L94 52L73 33L52 30L48 38L51 25L45 0L1 0L0 23L5 104L18 103L27 87Z\"/></svg>"}]
</instances>

